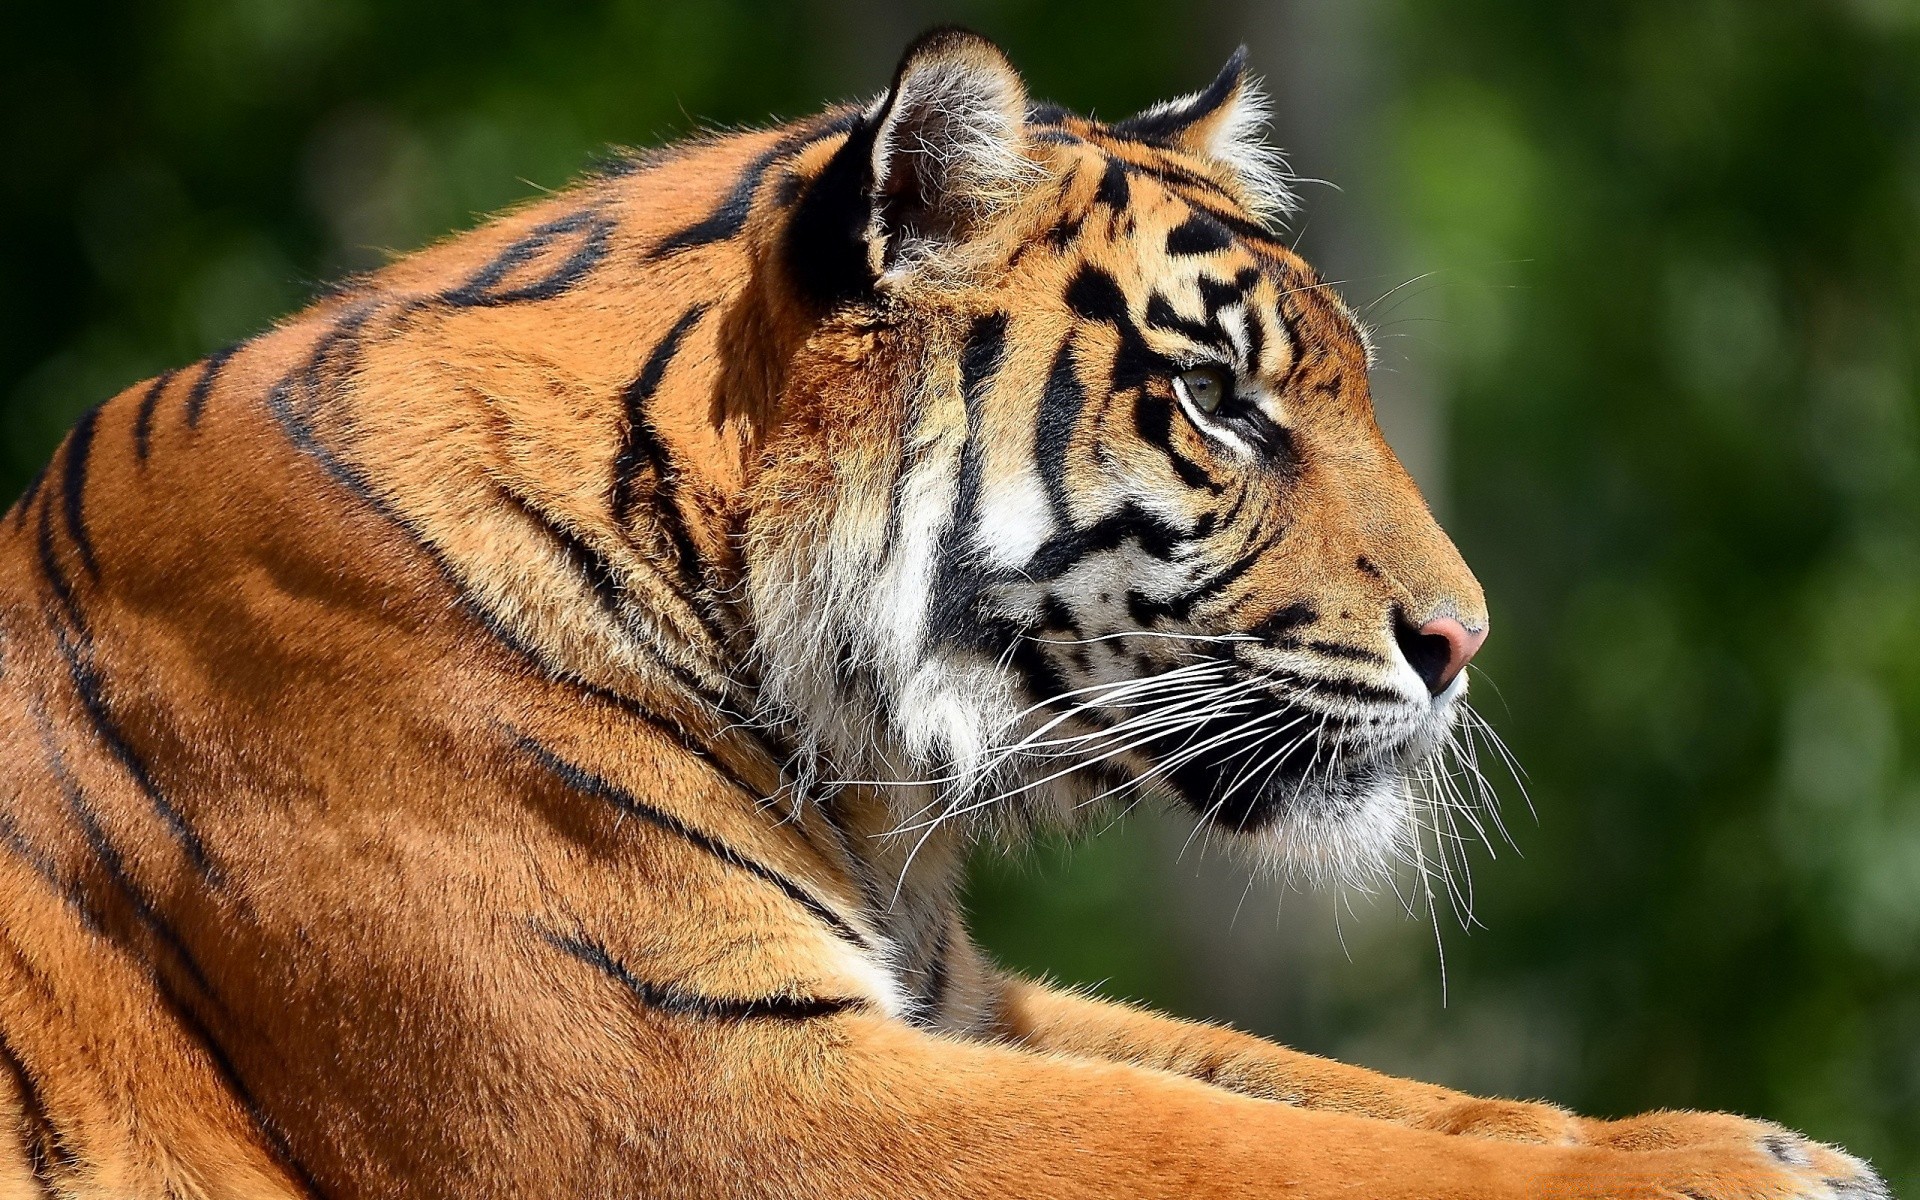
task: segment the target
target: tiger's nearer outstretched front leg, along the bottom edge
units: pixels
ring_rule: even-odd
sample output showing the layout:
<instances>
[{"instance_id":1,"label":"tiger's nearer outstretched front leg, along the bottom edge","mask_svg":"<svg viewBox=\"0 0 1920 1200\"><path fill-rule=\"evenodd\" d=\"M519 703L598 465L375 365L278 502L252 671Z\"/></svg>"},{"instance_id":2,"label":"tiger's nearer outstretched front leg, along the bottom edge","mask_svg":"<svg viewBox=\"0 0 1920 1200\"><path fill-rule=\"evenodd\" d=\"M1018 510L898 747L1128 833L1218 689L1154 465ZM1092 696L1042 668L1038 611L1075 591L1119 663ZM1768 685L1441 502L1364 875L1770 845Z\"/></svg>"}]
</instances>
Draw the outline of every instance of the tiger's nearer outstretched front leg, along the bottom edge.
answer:
<instances>
[{"instance_id":1,"label":"tiger's nearer outstretched front leg, along the bottom edge","mask_svg":"<svg viewBox=\"0 0 1920 1200\"><path fill-rule=\"evenodd\" d=\"M1837 1200L1757 1146L1613 1150L1450 1137L1165 1071L931 1037L847 1014L697 1035L680 1152L647 1194L906 1200ZM691 1046L687 1046L691 1050ZM695 1098L697 1096L697 1098ZM660 1112L660 1096L636 1098Z\"/></svg>"}]
</instances>

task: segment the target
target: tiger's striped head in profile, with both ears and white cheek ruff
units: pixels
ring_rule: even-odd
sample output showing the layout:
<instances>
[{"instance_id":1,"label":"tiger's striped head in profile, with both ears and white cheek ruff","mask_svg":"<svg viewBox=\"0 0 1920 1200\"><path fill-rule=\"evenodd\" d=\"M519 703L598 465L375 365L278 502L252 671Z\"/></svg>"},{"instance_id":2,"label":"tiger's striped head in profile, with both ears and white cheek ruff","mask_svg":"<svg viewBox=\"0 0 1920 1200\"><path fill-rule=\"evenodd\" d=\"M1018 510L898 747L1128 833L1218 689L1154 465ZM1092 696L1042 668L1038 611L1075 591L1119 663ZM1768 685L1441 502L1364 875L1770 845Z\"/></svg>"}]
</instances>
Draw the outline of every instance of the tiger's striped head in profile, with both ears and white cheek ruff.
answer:
<instances>
[{"instance_id":1,"label":"tiger's striped head in profile, with both ears and white cheek ruff","mask_svg":"<svg viewBox=\"0 0 1920 1200\"><path fill-rule=\"evenodd\" d=\"M1486 603L1261 125L1238 54L1102 125L941 31L795 161L745 595L764 701L906 828L1160 791L1313 874L1405 845Z\"/></svg>"}]
</instances>

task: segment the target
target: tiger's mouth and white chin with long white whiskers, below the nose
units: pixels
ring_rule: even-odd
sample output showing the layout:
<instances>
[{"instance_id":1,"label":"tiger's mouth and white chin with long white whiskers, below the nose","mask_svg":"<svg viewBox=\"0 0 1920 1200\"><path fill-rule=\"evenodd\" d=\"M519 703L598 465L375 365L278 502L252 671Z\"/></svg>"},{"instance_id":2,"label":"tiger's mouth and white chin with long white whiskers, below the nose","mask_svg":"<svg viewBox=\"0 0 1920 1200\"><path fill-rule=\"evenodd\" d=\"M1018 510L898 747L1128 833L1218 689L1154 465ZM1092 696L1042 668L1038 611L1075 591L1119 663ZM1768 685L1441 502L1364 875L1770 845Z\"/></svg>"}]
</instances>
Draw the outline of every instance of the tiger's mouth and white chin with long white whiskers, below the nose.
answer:
<instances>
[{"instance_id":1,"label":"tiger's mouth and white chin with long white whiskers, below the nose","mask_svg":"<svg viewBox=\"0 0 1920 1200\"><path fill-rule=\"evenodd\" d=\"M1413 778L1450 739L1465 682L1428 697L1394 672L1386 685L1294 680L1283 691L1267 672L1215 660L1079 682L1000 722L1002 749L981 776L962 772L968 799L952 810L1081 828L1160 793L1269 866L1365 883L1407 852Z\"/></svg>"}]
</instances>

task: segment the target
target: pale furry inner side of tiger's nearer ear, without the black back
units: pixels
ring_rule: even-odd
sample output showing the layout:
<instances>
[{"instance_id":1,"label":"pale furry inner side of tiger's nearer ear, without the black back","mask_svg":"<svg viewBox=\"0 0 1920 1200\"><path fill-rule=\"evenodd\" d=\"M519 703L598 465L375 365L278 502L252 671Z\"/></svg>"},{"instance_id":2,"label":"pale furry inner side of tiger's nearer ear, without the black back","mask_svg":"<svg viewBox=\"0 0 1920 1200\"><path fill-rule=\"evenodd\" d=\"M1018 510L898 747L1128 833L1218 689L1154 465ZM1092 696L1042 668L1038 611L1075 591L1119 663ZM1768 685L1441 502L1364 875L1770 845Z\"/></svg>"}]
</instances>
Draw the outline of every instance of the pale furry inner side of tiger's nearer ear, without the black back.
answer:
<instances>
[{"instance_id":1,"label":"pale furry inner side of tiger's nearer ear, without the black back","mask_svg":"<svg viewBox=\"0 0 1920 1200\"><path fill-rule=\"evenodd\" d=\"M866 248L881 282L966 242L1037 177L1027 88L998 46L966 29L914 40L866 121Z\"/></svg>"}]
</instances>

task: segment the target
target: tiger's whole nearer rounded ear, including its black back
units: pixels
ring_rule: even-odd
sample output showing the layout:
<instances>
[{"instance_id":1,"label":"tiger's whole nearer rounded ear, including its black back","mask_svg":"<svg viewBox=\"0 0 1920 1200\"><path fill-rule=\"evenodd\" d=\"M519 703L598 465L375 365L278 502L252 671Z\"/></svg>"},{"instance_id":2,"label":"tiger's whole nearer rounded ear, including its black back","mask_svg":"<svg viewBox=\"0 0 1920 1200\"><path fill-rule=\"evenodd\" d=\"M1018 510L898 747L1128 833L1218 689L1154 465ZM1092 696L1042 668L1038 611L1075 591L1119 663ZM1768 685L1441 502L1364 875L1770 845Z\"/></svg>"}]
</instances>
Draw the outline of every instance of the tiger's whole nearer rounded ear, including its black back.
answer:
<instances>
[{"instance_id":1,"label":"tiger's whole nearer rounded ear, including its black back","mask_svg":"<svg viewBox=\"0 0 1920 1200\"><path fill-rule=\"evenodd\" d=\"M1027 88L966 29L922 35L787 228L797 282L833 303L939 269L1041 177Z\"/></svg>"}]
</instances>

